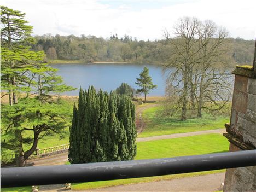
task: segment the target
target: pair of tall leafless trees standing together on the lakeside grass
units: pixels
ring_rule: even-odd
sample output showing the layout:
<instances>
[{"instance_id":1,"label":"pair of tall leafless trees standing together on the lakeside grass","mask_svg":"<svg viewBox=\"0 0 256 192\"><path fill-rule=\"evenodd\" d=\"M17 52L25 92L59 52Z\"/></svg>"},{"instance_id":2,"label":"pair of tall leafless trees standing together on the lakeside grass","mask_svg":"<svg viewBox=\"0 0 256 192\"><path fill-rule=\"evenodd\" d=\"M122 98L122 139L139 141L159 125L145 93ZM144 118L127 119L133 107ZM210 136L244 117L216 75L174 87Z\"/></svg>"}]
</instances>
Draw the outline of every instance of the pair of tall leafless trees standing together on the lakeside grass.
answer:
<instances>
[{"instance_id":1,"label":"pair of tall leafless trees standing together on the lakeside grass","mask_svg":"<svg viewBox=\"0 0 256 192\"><path fill-rule=\"evenodd\" d=\"M181 120L187 119L187 109L202 117L202 108L222 109L230 98L230 73L225 61L228 32L212 21L196 18L179 19L174 27L176 38L170 38L170 57L165 65L167 88L178 98Z\"/></svg>"}]
</instances>

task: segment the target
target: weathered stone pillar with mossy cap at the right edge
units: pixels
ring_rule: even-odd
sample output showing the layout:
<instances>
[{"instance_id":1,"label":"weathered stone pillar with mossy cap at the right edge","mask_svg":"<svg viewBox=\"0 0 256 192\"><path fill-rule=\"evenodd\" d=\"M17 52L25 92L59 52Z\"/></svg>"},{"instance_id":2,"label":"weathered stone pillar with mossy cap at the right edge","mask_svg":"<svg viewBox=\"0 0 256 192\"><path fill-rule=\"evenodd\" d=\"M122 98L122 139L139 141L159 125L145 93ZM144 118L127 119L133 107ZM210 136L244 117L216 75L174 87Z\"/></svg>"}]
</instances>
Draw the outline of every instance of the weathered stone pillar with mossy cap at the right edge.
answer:
<instances>
[{"instance_id":1,"label":"weathered stone pillar with mossy cap at the right edge","mask_svg":"<svg viewBox=\"0 0 256 192\"><path fill-rule=\"evenodd\" d=\"M223 135L229 139L230 152L256 149L256 75L251 66L237 66L232 74L231 117ZM223 191L256 191L256 166L227 169Z\"/></svg>"}]
</instances>

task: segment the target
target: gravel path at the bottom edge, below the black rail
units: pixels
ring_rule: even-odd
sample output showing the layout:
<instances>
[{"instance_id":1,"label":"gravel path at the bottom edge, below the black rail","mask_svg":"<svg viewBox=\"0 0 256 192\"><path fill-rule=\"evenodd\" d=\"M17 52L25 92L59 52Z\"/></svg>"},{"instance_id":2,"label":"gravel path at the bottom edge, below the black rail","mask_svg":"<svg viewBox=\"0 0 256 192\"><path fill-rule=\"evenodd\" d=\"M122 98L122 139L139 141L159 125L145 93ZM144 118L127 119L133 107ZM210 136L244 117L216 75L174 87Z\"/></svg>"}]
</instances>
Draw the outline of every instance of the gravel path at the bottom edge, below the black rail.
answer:
<instances>
[{"instance_id":1,"label":"gravel path at the bottom edge, below the black rail","mask_svg":"<svg viewBox=\"0 0 256 192\"><path fill-rule=\"evenodd\" d=\"M206 174L204 176L185 177L157 182L118 185L114 187L70 190L70 191L219 191L222 190L225 173ZM50 187L50 189L49 189ZM72 186L71 186L72 187ZM64 191L64 184L40 186L40 191Z\"/></svg>"}]
</instances>

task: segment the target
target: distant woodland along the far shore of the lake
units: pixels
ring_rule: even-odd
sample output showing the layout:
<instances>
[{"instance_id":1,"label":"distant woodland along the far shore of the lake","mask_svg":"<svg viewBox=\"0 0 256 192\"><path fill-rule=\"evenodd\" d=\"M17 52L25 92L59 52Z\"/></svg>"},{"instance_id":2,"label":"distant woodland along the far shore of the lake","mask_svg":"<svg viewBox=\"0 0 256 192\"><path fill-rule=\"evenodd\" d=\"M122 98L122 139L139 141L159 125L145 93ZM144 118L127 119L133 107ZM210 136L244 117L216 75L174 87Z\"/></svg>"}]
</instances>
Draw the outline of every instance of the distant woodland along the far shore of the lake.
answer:
<instances>
[{"instance_id":1,"label":"distant woodland along the far shore of the lake","mask_svg":"<svg viewBox=\"0 0 256 192\"><path fill-rule=\"evenodd\" d=\"M84 62L133 62L158 63L169 57L167 40L144 41L131 36L118 37L117 34L102 37L46 34L36 36L32 45L34 51L45 51L46 60L80 60ZM254 40L228 38L226 58L230 63L251 64Z\"/></svg>"}]
</instances>

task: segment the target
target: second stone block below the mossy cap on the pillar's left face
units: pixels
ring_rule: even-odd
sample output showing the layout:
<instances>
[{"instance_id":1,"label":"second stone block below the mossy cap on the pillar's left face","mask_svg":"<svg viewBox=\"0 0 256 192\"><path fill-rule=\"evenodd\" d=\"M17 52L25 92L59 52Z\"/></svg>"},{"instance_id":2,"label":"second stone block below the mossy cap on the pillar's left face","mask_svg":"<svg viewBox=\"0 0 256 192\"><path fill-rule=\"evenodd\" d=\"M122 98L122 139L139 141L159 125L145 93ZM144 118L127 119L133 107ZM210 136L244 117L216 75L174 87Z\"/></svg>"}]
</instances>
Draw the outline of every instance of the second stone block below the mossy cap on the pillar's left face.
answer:
<instances>
[{"instance_id":1,"label":"second stone block below the mossy cap on the pillar's left face","mask_svg":"<svg viewBox=\"0 0 256 192\"><path fill-rule=\"evenodd\" d=\"M234 90L232 109L236 110L237 112L246 113L248 99L247 97L248 95L245 92Z\"/></svg>"}]
</instances>

